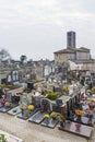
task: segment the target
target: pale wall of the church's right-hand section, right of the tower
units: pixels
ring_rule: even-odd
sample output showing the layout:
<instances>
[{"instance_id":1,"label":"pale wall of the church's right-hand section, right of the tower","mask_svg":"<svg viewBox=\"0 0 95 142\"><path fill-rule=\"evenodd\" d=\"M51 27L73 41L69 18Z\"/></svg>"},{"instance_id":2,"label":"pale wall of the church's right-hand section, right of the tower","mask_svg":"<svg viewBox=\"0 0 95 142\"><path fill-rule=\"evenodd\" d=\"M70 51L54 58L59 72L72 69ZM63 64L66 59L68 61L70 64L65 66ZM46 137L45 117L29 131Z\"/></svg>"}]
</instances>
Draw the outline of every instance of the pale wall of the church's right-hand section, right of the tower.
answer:
<instances>
[{"instance_id":1,"label":"pale wall of the church's right-hand section, right of the tower","mask_svg":"<svg viewBox=\"0 0 95 142\"><path fill-rule=\"evenodd\" d=\"M90 58L91 58L91 54L90 52L76 51L76 59L78 60L90 59Z\"/></svg>"}]
</instances>

